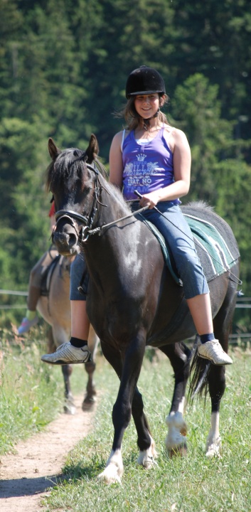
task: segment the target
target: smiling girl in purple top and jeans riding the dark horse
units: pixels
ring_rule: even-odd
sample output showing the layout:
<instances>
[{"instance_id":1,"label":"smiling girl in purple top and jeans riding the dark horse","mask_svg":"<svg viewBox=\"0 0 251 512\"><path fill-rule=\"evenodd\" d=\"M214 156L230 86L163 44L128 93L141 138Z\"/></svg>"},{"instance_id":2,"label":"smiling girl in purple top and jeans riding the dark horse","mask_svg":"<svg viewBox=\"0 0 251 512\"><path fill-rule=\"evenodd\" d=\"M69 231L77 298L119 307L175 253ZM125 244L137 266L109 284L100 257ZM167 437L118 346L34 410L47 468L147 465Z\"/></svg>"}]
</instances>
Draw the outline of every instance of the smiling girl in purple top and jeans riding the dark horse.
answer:
<instances>
[{"instance_id":1,"label":"smiling girl in purple top and jeans riding the dark horse","mask_svg":"<svg viewBox=\"0 0 251 512\"><path fill-rule=\"evenodd\" d=\"M110 182L123 190L132 209L146 207L143 215L156 225L173 254L183 282L186 301L200 336L198 354L215 365L231 364L213 334L208 284L196 254L191 230L179 204L190 186L191 151L186 135L171 127L161 112L167 96L164 80L153 68L141 66L130 73L126 85L127 129L117 133L110 149ZM141 191L135 201L134 191ZM157 208L156 208L157 207ZM74 337L42 361L51 364L82 363L89 351L90 321L85 302L73 303Z\"/></svg>"}]
</instances>

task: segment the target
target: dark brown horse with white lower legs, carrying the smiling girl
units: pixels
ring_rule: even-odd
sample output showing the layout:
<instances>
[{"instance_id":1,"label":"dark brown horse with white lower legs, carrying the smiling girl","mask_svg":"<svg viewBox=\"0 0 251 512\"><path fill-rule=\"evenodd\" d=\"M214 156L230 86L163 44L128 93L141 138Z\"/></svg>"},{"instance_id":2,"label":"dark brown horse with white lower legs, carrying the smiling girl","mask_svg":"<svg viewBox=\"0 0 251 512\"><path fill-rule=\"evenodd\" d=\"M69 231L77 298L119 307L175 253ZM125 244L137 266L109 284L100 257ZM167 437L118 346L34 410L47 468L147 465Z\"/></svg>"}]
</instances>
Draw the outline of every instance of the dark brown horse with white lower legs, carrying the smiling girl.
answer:
<instances>
[{"instance_id":1,"label":"dark brown horse with white lower legs, carrying the smiling girl","mask_svg":"<svg viewBox=\"0 0 251 512\"><path fill-rule=\"evenodd\" d=\"M138 463L144 467L154 464L154 440L137 388L146 345L159 347L169 357L174 371L173 399L166 418L166 447L169 452L186 447L183 407L191 351L183 341L195 335L196 330L183 287L166 266L158 240L137 213L131 214L122 193L107 183L97 159L95 136L90 137L86 151L60 151L49 139L49 152L52 163L47 185L54 195L57 218L53 241L63 255L74 255L80 249L84 252L90 274L87 312L100 337L102 352L120 380L112 410L112 452L100 475L110 483L119 481L124 471L122 439L131 416L137 430ZM188 210L193 215L203 215L201 204ZM239 252L228 224L211 210L207 210L207 215L212 225L220 225L235 253L231 270L226 266L223 273L209 282L215 337L228 351ZM205 368L209 369L206 375ZM203 380L203 375L212 405L206 447L211 455L220 447L219 410L225 390L225 368L198 358L193 387Z\"/></svg>"}]
</instances>

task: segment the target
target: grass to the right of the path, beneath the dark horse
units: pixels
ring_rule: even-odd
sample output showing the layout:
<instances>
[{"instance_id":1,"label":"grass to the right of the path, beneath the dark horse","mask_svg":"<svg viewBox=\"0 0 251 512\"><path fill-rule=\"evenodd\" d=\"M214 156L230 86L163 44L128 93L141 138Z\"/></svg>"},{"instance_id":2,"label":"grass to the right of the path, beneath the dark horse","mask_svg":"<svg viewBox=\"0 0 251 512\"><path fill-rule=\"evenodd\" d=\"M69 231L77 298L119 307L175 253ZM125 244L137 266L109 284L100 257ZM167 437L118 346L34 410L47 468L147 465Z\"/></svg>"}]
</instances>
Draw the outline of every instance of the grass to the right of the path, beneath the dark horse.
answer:
<instances>
[{"instance_id":1,"label":"grass to the right of the path, beneath the dark horse","mask_svg":"<svg viewBox=\"0 0 251 512\"><path fill-rule=\"evenodd\" d=\"M232 353L231 353L232 355ZM124 434L122 486L97 481L112 447L112 405L118 380L105 361L97 368L102 398L95 430L68 456L68 478L46 499L49 512L247 512L251 510L251 354L236 349L227 368L227 388L220 414L222 458L205 457L210 428L210 403L195 401L186 408L188 456L169 459L164 449L165 417L171 405L173 378L168 361L144 361L139 389L159 453L154 469L137 467L133 422Z\"/></svg>"}]
</instances>

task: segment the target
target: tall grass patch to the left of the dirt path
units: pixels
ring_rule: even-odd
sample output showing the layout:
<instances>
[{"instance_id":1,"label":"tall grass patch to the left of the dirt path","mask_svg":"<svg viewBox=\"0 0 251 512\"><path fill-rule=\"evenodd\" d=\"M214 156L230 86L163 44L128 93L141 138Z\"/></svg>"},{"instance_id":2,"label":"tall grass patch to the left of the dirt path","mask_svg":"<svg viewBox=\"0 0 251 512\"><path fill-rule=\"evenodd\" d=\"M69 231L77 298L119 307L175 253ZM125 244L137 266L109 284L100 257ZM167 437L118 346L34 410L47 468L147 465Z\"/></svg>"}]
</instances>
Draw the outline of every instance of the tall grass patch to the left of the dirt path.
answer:
<instances>
[{"instance_id":1,"label":"tall grass patch to the left of the dirt path","mask_svg":"<svg viewBox=\"0 0 251 512\"><path fill-rule=\"evenodd\" d=\"M40 361L47 350L43 328L22 339L6 329L0 336L0 454L4 454L63 411L64 389L61 368Z\"/></svg>"}]
</instances>

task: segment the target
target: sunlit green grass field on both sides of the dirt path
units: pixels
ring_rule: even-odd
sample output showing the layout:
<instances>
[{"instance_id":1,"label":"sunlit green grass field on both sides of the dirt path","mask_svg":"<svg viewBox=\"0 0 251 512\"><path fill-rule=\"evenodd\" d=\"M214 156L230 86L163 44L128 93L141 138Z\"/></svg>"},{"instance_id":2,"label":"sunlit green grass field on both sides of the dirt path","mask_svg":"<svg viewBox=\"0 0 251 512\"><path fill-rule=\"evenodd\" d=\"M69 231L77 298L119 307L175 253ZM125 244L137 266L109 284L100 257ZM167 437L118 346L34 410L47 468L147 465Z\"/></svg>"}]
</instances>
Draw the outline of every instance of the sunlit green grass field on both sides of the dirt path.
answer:
<instances>
[{"instance_id":1,"label":"sunlit green grass field on both sides of the dirt path","mask_svg":"<svg viewBox=\"0 0 251 512\"><path fill-rule=\"evenodd\" d=\"M38 336L39 336L38 332ZM29 435L43 428L62 407L59 368L41 369L36 342L30 347L6 346L8 358L2 366L1 415L11 417L11 432L25 430ZM2 348L3 349L3 348ZM6 353L6 352L5 352ZM169 459L164 449L165 417L171 405L173 378L169 361L162 356L150 362L145 358L139 379L145 412L159 454L154 469L137 466L137 436L133 422L124 434L122 486L97 481L112 447L112 405L118 379L108 363L97 359L95 381L100 402L92 433L68 455L65 481L50 492L44 502L48 512L249 512L251 511L251 352L235 348L234 364L227 368L227 388L220 415L222 458L205 458L205 439L210 428L210 403L194 401L186 407L188 456ZM11 376L11 372L14 372ZM78 369L74 371L77 381ZM74 374L73 373L73 374ZM82 373L81 373L82 374ZM82 389L80 390L80 393ZM49 403L50 402L50 403ZM18 407L17 407L18 405ZM7 410L6 410L7 409ZM27 413L28 410L28 413ZM45 417L46 414L46 417ZM26 416L26 419L24 418ZM9 426L8 425L8 426ZM1 450L8 446L6 420L1 417ZM13 441L12 441L13 442Z\"/></svg>"}]
</instances>

